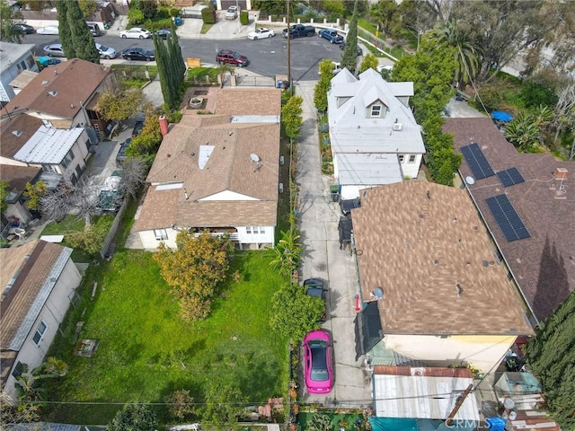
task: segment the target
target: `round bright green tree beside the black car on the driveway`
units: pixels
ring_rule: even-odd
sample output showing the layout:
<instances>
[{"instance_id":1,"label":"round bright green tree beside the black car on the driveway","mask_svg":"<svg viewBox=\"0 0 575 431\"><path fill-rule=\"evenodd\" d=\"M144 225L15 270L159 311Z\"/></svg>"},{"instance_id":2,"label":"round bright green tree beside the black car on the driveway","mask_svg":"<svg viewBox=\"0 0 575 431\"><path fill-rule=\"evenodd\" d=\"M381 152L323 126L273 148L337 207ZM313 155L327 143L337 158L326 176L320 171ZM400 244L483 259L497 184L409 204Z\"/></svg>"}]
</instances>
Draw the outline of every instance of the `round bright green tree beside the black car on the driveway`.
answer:
<instances>
[{"instance_id":1,"label":"round bright green tree beside the black car on the driveway","mask_svg":"<svg viewBox=\"0 0 575 431\"><path fill-rule=\"evenodd\" d=\"M301 341L310 330L319 328L317 320L325 311L322 298L305 295L296 283L281 286L271 301L271 329L292 342Z\"/></svg>"}]
</instances>

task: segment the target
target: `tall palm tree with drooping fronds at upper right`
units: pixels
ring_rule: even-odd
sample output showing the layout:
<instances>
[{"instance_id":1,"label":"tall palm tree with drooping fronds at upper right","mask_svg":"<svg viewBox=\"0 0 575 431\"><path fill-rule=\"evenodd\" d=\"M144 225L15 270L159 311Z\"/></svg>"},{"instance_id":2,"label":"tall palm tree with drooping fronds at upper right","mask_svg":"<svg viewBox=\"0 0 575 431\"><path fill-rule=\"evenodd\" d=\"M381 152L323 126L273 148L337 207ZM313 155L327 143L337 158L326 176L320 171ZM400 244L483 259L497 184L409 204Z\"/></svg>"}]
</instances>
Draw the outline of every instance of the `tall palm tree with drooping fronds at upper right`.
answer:
<instances>
[{"instance_id":1,"label":"tall palm tree with drooping fronds at upper right","mask_svg":"<svg viewBox=\"0 0 575 431\"><path fill-rule=\"evenodd\" d=\"M469 39L469 35L457 27L455 21L439 24L429 32L429 40L434 40L437 48L449 45L456 48L457 67L454 75L456 86L469 84L479 73L479 56L481 48Z\"/></svg>"}]
</instances>

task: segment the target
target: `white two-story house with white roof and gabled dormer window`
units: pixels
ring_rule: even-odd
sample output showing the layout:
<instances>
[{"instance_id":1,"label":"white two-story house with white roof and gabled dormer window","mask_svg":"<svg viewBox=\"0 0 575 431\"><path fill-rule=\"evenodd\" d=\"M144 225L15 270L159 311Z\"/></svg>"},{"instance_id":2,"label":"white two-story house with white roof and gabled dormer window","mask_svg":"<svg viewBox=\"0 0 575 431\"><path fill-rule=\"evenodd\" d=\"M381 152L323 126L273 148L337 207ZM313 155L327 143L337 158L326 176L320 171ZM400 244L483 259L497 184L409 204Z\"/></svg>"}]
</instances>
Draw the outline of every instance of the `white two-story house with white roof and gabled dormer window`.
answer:
<instances>
[{"instance_id":1,"label":"white two-story house with white roof and gabled dormer window","mask_svg":"<svg viewBox=\"0 0 575 431\"><path fill-rule=\"evenodd\" d=\"M416 178L425 146L409 98L413 83L388 83L373 69L332 79L328 116L333 174L341 198L359 189Z\"/></svg>"}]
</instances>

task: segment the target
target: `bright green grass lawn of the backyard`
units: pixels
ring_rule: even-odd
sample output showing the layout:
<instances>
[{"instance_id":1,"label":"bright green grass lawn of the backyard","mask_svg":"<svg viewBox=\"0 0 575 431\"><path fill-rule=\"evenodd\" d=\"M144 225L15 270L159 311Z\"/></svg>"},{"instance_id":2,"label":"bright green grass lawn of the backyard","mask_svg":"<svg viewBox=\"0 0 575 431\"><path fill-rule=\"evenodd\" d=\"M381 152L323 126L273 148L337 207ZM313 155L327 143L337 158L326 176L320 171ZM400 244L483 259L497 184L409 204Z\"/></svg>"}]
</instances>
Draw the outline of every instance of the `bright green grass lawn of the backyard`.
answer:
<instances>
[{"instance_id":1,"label":"bright green grass lawn of the backyard","mask_svg":"<svg viewBox=\"0 0 575 431\"><path fill-rule=\"evenodd\" d=\"M270 297L286 280L270 270L266 251L237 252L230 281L206 321L186 324L178 303L160 277L152 254L118 251L106 268L96 299L85 301L66 323L50 355L70 366L49 391L49 400L104 404L50 405L45 420L106 424L121 406L106 402L163 402L187 389L196 401L210 383L234 383L252 403L282 396L288 387L288 342L268 326ZM84 283L84 296L90 295ZM83 318L79 310L86 307ZM85 321L80 339L98 339L92 358L72 355L75 324ZM156 411L164 421L163 407Z\"/></svg>"}]
</instances>

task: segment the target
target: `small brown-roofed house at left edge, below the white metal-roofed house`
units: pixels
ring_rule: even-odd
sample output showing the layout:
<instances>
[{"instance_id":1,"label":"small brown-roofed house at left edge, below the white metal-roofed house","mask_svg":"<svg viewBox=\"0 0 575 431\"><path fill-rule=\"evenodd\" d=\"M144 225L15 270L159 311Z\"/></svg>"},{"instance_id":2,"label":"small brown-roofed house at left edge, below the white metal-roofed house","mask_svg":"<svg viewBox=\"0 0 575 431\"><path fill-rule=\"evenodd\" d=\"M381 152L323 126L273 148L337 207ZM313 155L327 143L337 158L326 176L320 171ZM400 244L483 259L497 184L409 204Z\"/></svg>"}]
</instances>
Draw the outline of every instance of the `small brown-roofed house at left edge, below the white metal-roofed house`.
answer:
<instances>
[{"instance_id":1,"label":"small brown-roofed house at left edge, below the white metal-roofed house","mask_svg":"<svg viewBox=\"0 0 575 431\"><path fill-rule=\"evenodd\" d=\"M40 177L41 168L36 166L11 166L0 164L0 180L6 181L10 187L6 197L6 210L2 216L7 219L22 220L28 223L32 216L26 199L22 196L26 183L33 183ZM3 221L4 224L4 221Z\"/></svg>"}]
</instances>

